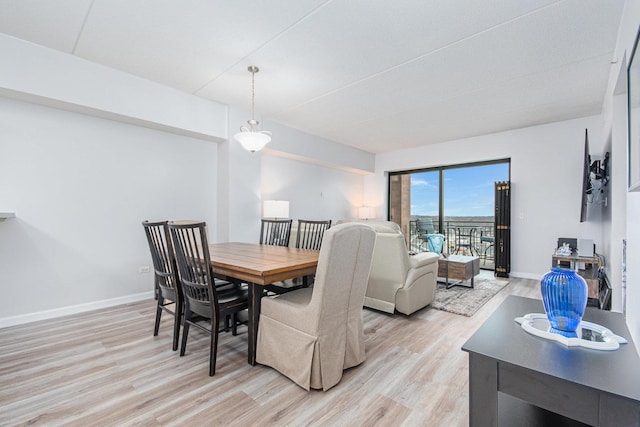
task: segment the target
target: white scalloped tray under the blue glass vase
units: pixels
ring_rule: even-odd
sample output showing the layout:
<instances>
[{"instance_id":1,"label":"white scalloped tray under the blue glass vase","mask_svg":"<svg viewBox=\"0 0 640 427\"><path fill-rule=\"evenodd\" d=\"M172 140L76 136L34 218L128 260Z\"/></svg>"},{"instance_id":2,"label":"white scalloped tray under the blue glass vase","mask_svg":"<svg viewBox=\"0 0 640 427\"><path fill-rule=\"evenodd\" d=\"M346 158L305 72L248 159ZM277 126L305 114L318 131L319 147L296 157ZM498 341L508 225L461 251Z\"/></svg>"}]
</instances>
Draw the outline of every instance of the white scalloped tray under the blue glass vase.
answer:
<instances>
[{"instance_id":1,"label":"white scalloped tray under the blue glass vase","mask_svg":"<svg viewBox=\"0 0 640 427\"><path fill-rule=\"evenodd\" d=\"M563 335L549 332L549 320L546 314L529 313L514 319L522 329L544 339L557 341L567 347L585 347L594 350L617 350L620 344L626 344L627 340L611 332L604 326L582 321L576 330L576 338L568 338Z\"/></svg>"}]
</instances>

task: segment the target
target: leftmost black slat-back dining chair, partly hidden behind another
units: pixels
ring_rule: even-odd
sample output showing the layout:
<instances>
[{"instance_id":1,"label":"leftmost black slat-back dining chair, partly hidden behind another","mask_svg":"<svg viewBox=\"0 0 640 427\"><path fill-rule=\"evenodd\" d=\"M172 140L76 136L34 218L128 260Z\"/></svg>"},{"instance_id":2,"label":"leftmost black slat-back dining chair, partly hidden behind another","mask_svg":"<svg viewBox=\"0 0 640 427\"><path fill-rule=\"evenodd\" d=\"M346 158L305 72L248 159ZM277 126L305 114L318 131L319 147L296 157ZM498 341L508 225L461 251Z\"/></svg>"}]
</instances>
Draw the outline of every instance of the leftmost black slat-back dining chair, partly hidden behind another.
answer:
<instances>
[{"instance_id":1,"label":"leftmost black slat-back dining chair, partly hidden behind another","mask_svg":"<svg viewBox=\"0 0 640 427\"><path fill-rule=\"evenodd\" d=\"M167 221L144 221L142 226L144 227L147 242L149 243L149 250L151 251L157 297L156 322L153 328L153 336L158 336L162 312L165 311L171 314L174 318L172 348L173 351L176 351L178 349L180 321L184 303L167 224Z\"/></svg>"}]
</instances>

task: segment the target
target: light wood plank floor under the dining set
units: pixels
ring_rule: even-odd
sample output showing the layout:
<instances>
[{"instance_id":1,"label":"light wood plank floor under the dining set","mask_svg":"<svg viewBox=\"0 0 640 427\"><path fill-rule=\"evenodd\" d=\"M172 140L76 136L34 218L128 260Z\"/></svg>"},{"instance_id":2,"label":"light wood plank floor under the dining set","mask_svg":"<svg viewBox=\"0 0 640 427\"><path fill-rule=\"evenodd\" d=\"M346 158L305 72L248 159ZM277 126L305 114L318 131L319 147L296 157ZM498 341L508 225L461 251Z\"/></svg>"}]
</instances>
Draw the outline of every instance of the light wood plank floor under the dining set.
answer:
<instances>
[{"instance_id":1,"label":"light wood plank floor under the dining set","mask_svg":"<svg viewBox=\"0 0 640 427\"><path fill-rule=\"evenodd\" d=\"M367 361L326 393L249 366L244 327L221 335L209 377L208 337L193 330L179 357L170 316L153 336L153 300L0 329L0 425L466 426L460 348L509 294L539 283L511 278L470 318L365 309Z\"/></svg>"}]
</instances>

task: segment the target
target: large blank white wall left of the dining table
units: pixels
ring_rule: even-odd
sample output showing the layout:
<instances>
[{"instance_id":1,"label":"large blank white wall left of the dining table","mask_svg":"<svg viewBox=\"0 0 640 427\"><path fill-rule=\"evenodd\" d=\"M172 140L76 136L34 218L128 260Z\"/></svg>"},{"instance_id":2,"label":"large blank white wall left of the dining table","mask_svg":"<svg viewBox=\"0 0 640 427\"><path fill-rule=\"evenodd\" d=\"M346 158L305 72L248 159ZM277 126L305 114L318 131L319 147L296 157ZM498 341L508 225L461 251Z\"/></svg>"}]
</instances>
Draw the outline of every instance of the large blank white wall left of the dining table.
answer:
<instances>
[{"instance_id":1,"label":"large blank white wall left of the dining table","mask_svg":"<svg viewBox=\"0 0 640 427\"><path fill-rule=\"evenodd\" d=\"M0 98L0 211L17 216L0 223L0 323L150 297L140 223L213 223L216 156L212 142Z\"/></svg>"}]
</instances>

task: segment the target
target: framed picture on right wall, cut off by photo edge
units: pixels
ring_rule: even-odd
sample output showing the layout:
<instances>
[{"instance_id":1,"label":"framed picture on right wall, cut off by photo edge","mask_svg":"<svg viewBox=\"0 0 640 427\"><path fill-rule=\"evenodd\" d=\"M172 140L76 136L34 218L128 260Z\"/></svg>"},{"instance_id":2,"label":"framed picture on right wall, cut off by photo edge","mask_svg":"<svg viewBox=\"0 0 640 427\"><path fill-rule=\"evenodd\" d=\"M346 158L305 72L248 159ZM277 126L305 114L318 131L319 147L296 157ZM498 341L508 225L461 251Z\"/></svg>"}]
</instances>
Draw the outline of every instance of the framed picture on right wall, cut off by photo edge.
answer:
<instances>
[{"instance_id":1,"label":"framed picture on right wall, cut off by photo edge","mask_svg":"<svg viewBox=\"0 0 640 427\"><path fill-rule=\"evenodd\" d=\"M627 111L628 111L628 191L640 191L640 53L638 53L640 28L633 43L627 67Z\"/></svg>"}]
</instances>

